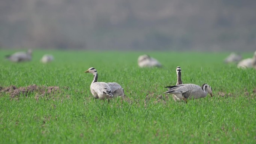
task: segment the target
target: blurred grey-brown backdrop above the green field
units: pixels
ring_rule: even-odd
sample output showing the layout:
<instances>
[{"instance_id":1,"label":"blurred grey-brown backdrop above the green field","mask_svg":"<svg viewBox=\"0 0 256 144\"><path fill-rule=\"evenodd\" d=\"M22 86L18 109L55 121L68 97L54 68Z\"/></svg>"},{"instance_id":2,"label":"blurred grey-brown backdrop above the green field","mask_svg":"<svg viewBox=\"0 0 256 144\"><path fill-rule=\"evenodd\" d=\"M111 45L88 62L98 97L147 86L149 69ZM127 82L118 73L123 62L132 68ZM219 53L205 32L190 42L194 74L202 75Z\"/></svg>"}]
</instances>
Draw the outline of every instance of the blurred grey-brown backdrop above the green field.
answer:
<instances>
[{"instance_id":1,"label":"blurred grey-brown backdrop above the green field","mask_svg":"<svg viewBox=\"0 0 256 144\"><path fill-rule=\"evenodd\" d=\"M255 0L1 0L1 48L256 50Z\"/></svg>"}]
</instances>

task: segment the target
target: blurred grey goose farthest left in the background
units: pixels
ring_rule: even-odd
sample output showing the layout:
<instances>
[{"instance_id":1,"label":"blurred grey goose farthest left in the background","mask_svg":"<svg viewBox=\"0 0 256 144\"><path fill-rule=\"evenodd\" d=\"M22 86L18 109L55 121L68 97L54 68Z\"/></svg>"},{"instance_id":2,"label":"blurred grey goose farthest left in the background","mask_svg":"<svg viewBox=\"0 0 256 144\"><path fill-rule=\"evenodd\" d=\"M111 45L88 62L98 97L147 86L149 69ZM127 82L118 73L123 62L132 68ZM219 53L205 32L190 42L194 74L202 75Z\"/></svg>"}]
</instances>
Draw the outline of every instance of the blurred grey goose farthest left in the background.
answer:
<instances>
[{"instance_id":1,"label":"blurred grey goose farthest left in the background","mask_svg":"<svg viewBox=\"0 0 256 144\"><path fill-rule=\"evenodd\" d=\"M16 52L12 55L6 55L6 58L12 62L22 62L31 60L32 50L28 49L27 52Z\"/></svg>"}]
</instances>

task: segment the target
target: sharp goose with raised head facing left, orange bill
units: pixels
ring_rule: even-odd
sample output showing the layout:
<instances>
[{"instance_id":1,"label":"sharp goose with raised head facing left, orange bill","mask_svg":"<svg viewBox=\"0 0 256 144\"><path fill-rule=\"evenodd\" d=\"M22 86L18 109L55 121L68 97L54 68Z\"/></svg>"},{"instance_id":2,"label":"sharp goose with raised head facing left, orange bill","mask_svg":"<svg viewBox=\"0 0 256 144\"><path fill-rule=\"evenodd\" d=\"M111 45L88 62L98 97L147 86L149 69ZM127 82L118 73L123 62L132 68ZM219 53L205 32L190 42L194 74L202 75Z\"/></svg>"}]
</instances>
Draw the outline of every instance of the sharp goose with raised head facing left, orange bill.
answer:
<instances>
[{"instance_id":1,"label":"sharp goose with raised head facing left, orange bill","mask_svg":"<svg viewBox=\"0 0 256 144\"><path fill-rule=\"evenodd\" d=\"M105 82L97 82L98 74L97 70L93 67L89 68L85 73L92 73L93 80L90 86L91 93L95 98L99 99L109 99L113 98L113 94L111 93L111 88Z\"/></svg>"}]
</instances>

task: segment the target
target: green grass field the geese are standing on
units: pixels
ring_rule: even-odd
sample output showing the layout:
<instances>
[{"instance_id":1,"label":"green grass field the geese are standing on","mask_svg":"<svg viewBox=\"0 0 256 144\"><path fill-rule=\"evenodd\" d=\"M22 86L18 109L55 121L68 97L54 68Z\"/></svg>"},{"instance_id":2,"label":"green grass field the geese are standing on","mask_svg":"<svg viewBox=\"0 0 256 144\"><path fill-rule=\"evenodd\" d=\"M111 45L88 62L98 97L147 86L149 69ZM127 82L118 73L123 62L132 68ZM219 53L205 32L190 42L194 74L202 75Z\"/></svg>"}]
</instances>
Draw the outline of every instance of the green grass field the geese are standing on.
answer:
<instances>
[{"instance_id":1,"label":"green grass field the geese are standing on","mask_svg":"<svg viewBox=\"0 0 256 144\"><path fill-rule=\"evenodd\" d=\"M35 98L36 93L10 98L0 94L0 144L255 144L256 70L226 65L229 53L146 52L163 68L139 68L145 52L35 50L30 62L12 63L0 51L0 86L59 86L60 93ZM45 53L55 56L39 62ZM244 58L252 57L245 53ZM213 97L174 102L163 94L183 83L213 88ZM126 98L94 99L92 74L99 82L118 82ZM161 96L162 95L162 96ZM221 96L224 95L224 96Z\"/></svg>"}]
</instances>

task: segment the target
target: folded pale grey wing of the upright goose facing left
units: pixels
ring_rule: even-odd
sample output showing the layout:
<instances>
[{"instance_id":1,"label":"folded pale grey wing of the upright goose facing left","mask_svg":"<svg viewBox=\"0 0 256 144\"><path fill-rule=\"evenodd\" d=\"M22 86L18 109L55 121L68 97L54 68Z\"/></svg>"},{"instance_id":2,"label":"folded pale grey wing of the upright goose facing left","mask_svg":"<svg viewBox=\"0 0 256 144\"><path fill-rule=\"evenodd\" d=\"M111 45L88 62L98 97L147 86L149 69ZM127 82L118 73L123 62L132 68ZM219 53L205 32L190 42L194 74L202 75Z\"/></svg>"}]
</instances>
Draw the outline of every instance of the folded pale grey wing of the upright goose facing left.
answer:
<instances>
[{"instance_id":1,"label":"folded pale grey wing of the upright goose facing left","mask_svg":"<svg viewBox=\"0 0 256 144\"><path fill-rule=\"evenodd\" d=\"M100 95L103 95L103 94L107 94L107 95L110 95L110 96L113 96L111 94L111 89L109 87L109 85L107 85L107 83L104 83L104 82L95 82L95 83L92 83L91 84L91 88L97 92L98 94Z\"/></svg>"}]
</instances>

